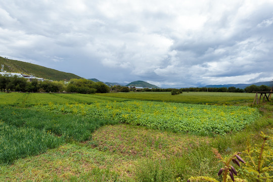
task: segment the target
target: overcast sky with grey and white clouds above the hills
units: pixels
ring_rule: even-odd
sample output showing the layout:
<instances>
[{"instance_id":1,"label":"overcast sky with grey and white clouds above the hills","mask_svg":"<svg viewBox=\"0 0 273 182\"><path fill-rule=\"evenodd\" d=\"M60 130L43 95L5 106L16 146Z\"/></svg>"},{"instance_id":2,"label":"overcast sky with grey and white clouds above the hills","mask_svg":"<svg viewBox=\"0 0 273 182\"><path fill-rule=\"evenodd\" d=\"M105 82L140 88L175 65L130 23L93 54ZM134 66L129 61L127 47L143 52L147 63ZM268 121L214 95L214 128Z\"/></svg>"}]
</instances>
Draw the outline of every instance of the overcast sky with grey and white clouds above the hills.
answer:
<instances>
[{"instance_id":1,"label":"overcast sky with grey and white clouds above the hills","mask_svg":"<svg viewBox=\"0 0 273 182\"><path fill-rule=\"evenodd\" d=\"M0 56L161 87L273 79L273 0L1 0Z\"/></svg>"}]
</instances>

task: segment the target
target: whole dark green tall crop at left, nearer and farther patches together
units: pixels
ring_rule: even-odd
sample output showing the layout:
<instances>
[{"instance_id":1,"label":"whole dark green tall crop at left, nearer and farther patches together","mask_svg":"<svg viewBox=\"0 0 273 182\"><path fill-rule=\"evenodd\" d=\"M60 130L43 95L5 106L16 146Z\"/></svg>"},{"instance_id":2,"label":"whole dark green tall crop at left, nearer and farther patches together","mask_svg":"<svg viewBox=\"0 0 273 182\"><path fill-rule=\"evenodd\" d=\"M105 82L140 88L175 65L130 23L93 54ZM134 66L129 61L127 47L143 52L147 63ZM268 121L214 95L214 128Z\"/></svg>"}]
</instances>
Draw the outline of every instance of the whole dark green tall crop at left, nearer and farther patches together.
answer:
<instances>
[{"instance_id":1,"label":"whole dark green tall crop at left, nearer and farther patches together","mask_svg":"<svg viewBox=\"0 0 273 182\"><path fill-rule=\"evenodd\" d=\"M37 155L69 141L86 141L114 121L0 106L0 164Z\"/></svg>"}]
</instances>

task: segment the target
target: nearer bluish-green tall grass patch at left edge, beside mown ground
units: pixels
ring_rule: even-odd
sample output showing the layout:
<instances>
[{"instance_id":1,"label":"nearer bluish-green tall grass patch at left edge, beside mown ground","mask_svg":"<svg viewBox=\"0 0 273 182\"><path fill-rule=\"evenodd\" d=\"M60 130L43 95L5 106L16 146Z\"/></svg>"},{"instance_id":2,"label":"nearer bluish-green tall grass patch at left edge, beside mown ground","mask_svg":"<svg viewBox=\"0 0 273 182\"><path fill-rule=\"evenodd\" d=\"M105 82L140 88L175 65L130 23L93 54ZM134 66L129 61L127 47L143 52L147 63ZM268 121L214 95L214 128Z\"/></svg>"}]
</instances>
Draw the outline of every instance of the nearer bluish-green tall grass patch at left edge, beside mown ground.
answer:
<instances>
[{"instance_id":1,"label":"nearer bluish-green tall grass patch at left edge, beside mown ground","mask_svg":"<svg viewBox=\"0 0 273 182\"><path fill-rule=\"evenodd\" d=\"M37 155L63 144L60 138L35 128L16 127L0 123L0 164Z\"/></svg>"}]
</instances>

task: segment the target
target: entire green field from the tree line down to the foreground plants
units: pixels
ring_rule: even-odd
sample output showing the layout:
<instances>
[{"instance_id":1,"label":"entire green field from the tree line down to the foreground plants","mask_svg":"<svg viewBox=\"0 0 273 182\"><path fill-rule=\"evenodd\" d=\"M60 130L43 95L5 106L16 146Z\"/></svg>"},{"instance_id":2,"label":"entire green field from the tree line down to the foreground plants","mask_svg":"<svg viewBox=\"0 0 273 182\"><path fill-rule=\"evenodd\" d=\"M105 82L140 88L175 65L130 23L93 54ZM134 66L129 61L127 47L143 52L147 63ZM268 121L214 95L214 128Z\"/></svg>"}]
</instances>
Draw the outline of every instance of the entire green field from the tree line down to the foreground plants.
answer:
<instances>
[{"instance_id":1,"label":"entire green field from the tree line down to the foreground plants","mask_svg":"<svg viewBox=\"0 0 273 182\"><path fill-rule=\"evenodd\" d=\"M259 144L260 131L273 134L272 101L252 106L253 99L244 93L0 93L0 181L186 181L198 175L220 181L212 148L231 155L247 141ZM223 129L250 120L224 134L151 127L179 117L193 124L193 115L197 121L218 117ZM148 124L129 119L138 116Z\"/></svg>"}]
</instances>

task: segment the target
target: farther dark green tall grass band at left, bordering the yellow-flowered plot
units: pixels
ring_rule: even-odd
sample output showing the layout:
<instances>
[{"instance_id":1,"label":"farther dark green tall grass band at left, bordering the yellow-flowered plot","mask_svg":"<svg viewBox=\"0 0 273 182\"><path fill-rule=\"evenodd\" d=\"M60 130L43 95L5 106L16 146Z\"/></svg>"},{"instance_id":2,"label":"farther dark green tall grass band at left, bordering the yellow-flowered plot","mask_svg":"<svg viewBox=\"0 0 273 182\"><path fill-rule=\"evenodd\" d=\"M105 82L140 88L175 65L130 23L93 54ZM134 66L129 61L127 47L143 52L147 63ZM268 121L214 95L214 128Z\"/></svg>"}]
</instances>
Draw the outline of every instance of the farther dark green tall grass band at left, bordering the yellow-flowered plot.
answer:
<instances>
[{"instance_id":1,"label":"farther dark green tall grass band at left, bordering the yellow-flowered plot","mask_svg":"<svg viewBox=\"0 0 273 182\"><path fill-rule=\"evenodd\" d=\"M78 142L90 140L92 132L106 124L115 124L111 120L55 114L14 107L1 107L0 118L5 123L17 127L29 127L62 135L66 140Z\"/></svg>"}]
</instances>

